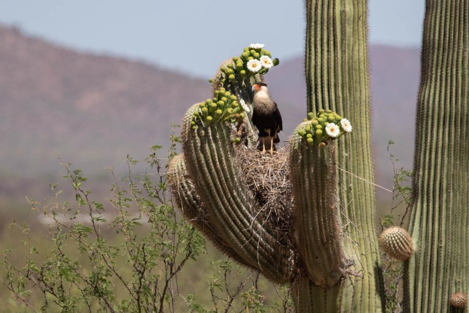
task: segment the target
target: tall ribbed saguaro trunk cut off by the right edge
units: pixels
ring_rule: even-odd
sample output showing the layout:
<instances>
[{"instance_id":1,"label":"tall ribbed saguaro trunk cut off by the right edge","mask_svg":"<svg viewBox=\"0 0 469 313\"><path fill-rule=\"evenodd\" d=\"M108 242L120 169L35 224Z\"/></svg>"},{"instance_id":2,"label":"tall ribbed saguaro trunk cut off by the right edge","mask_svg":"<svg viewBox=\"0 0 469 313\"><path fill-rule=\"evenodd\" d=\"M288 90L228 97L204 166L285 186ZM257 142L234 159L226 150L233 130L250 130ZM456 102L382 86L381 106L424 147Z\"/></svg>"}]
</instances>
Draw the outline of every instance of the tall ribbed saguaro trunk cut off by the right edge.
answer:
<instances>
[{"instance_id":1,"label":"tall ribbed saguaro trunk cut off by the right edge","mask_svg":"<svg viewBox=\"0 0 469 313\"><path fill-rule=\"evenodd\" d=\"M405 312L468 293L469 0L427 0L417 103Z\"/></svg>"}]
</instances>

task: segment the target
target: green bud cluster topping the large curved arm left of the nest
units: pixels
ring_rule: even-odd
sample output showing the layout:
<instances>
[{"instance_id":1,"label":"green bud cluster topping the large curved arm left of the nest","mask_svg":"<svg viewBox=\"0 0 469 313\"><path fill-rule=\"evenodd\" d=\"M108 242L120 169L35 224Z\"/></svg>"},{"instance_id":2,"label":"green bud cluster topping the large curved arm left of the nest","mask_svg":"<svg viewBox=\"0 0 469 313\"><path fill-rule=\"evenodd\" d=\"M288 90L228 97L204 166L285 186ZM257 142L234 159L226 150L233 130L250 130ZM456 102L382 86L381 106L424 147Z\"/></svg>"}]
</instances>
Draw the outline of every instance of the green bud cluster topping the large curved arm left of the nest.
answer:
<instances>
[{"instance_id":1,"label":"green bud cluster topping the large curved arm left of the nest","mask_svg":"<svg viewBox=\"0 0 469 313\"><path fill-rule=\"evenodd\" d=\"M210 126L219 121L235 123L245 117L244 109L239 104L237 97L225 88L215 91L213 99L207 99L199 104L198 110L192 115L192 129L196 129L199 123Z\"/></svg>"}]
</instances>

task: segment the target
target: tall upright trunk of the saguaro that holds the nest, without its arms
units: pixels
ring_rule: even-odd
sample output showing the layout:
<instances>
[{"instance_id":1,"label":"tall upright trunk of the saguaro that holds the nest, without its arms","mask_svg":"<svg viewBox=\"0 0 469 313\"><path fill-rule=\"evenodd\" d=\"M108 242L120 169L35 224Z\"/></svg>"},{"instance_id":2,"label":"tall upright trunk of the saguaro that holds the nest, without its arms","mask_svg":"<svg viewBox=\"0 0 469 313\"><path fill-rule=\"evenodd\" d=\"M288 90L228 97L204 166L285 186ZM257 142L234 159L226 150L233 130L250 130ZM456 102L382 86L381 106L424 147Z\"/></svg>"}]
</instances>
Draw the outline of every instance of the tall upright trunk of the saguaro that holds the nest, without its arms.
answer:
<instances>
[{"instance_id":1,"label":"tall upright trunk of the saguaro that holds the nest, without its arms","mask_svg":"<svg viewBox=\"0 0 469 313\"><path fill-rule=\"evenodd\" d=\"M375 229L375 193L370 148L367 1L306 0L305 74L307 110L330 109L350 116L350 140L338 140L338 196L346 257L363 277L347 277L340 289L304 282L314 312L381 312L383 278ZM348 238L347 238L348 237ZM300 287L298 287L300 288ZM340 294L340 296L338 295ZM322 299L318 298L322 297ZM302 303L306 303L304 299ZM337 302L337 308L331 302ZM323 308L321 311L321 307ZM337 310L337 311L334 311ZM306 311L305 311L306 312Z\"/></svg>"}]
</instances>

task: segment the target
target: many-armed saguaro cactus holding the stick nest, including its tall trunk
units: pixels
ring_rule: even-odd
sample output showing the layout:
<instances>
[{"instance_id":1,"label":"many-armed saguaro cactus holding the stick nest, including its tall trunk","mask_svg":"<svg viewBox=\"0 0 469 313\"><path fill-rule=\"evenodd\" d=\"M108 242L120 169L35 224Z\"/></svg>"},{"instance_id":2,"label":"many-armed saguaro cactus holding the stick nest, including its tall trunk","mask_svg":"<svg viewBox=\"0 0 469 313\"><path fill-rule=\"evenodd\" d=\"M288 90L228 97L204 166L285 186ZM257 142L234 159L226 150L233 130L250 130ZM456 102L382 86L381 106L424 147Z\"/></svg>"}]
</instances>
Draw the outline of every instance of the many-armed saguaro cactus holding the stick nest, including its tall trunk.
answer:
<instances>
[{"instance_id":1,"label":"many-armed saguaro cactus holding the stick nest, including its tall trunk","mask_svg":"<svg viewBox=\"0 0 469 313\"><path fill-rule=\"evenodd\" d=\"M216 246L270 280L289 283L297 312L381 312L366 1L305 5L309 113L291 137L285 178L293 186L294 229L276 228L262 215L236 161L237 149L255 152L251 85L278 64L263 45L223 62L212 80L214 97L186 113L184 156L171 162L171 186L185 215ZM352 136L342 116L353 123Z\"/></svg>"}]
</instances>

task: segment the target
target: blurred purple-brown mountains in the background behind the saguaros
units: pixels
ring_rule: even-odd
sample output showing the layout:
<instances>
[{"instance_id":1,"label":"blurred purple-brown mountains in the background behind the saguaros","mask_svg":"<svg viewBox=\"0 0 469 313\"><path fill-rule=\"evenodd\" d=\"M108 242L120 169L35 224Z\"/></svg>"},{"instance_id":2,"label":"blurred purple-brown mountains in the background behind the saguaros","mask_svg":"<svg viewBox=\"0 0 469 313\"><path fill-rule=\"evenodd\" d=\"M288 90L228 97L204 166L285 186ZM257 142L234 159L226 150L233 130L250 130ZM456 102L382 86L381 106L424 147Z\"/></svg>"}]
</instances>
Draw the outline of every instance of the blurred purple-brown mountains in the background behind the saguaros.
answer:
<instances>
[{"instance_id":1,"label":"blurred purple-brown mountains in the background behind the saguaros","mask_svg":"<svg viewBox=\"0 0 469 313\"><path fill-rule=\"evenodd\" d=\"M0 26L0 43L3 177L34 181L57 171L55 153L87 173L121 165L128 153L143 159L150 146L168 143L172 121L180 123L188 106L210 96L206 79L79 53L15 28ZM411 165L419 50L371 45L369 55L375 173L378 183L390 187L389 139L403 164ZM305 115L305 87L302 58L281 61L267 81L285 120L286 140Z\"/></svg>"}]
</instances>

